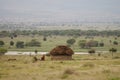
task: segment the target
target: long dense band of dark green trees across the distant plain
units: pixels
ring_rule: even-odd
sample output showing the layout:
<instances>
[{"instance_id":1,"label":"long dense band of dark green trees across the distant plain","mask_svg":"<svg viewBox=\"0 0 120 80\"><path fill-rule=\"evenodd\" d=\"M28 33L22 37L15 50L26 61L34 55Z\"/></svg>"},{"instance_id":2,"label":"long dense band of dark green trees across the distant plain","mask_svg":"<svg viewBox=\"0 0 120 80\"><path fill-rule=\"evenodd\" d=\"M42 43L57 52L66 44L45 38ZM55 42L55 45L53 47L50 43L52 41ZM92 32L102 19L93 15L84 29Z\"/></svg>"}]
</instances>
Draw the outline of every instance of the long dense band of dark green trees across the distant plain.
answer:
<instances>
[{"instance_id":1,"label":"long dense band of dark green trees across the distant plain","mask_svg":"<svg viewBox=\"0 0 120 80\"><path fill-rule=\"evenodd\" d=\"M15 30L15 31L1 31L0 37L17 37L17 35L42 35L42 36L118 36L120 37L120 30Z\"/></svg>"}]
</instances>

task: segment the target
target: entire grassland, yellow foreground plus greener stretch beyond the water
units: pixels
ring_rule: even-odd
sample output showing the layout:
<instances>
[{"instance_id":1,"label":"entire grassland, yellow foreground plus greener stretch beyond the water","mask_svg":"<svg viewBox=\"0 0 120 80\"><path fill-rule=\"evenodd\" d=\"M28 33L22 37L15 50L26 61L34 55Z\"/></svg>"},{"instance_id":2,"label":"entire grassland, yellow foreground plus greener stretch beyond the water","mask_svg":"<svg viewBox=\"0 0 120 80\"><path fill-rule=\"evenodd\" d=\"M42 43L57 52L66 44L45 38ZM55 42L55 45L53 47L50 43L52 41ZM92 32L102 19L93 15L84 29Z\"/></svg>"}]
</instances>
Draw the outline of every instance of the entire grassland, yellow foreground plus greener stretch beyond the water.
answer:
<instances>
[{"instance_id":1,"label":"entire grassland, yellow foreground plus greener stretch beyond the water","mask_svg":"<svg viewBox=\"0 0 120 80\"><path fill-rule=\"evenodd\" d=\"M34 62L33 56L29 55L2 55L0 56L0 80L120 80L120 37L94 35L92 38L91 36L86 38L86 36L49 35L45 36L46 41L43 40L43 35L38 34L0 38L5 43L1 47L7 48L8 51L49 52L58 45L67 45L66 41L69 39L75 39L75 43L71 45L74 52L88 52L89 49L96 51L92 55L74 54L73 60L66 61L52 61L50 56L46 56L45 61L40 61L41 55L37 55L38 61ZM41 43L39 47L16 47L17 41L27 43L33 39ZM103 42L104 46L81 48L78 45L80 40ZM10 46L10 41L14 42L13 46ZM118 44L114 45L114 41ZM112 55L109 52L110 48L116 48L117 51ZM101 56L98 56L97 51ZM104 51L107 52L104 53Z\"/></svg>"}]
</instances>

